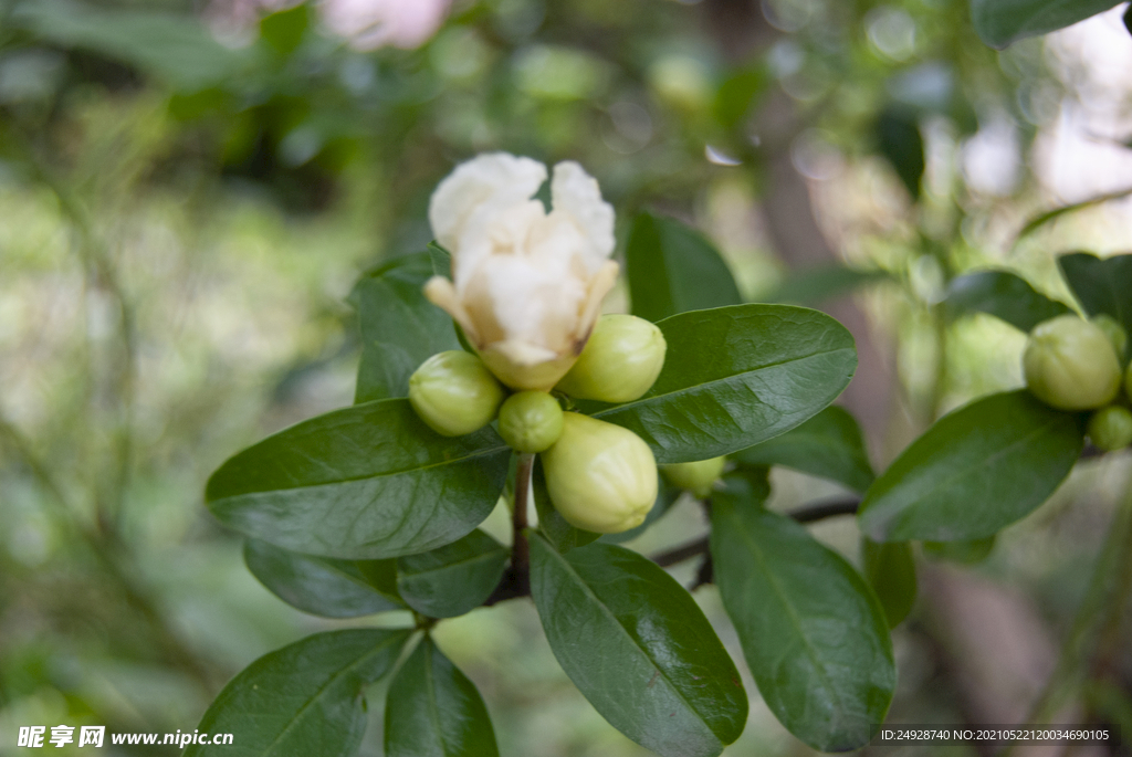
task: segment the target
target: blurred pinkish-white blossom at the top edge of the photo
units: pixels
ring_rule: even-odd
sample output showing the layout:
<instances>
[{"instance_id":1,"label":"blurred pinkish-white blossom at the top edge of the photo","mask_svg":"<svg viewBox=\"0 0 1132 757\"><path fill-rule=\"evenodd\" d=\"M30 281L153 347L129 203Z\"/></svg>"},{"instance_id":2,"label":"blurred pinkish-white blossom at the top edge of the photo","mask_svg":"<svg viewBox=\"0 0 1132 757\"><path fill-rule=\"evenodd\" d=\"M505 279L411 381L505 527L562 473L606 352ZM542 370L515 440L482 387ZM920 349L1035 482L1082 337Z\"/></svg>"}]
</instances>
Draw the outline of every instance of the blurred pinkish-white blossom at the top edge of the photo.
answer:
<instances>
[{"instance_id":1,"label":"blurred pinkish-white blossom at the top edge of the photo","mask_svg":"<svg viewBox=\"0 0 1132 757\"><path fill-rule=\"evenodd\" d=\"M355 50L384 45L419 48L436 34L451 0L323 0L318 9L327 28Z\"/></svg>"}]
</instances>

